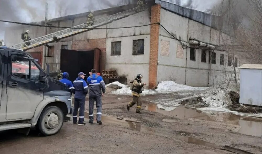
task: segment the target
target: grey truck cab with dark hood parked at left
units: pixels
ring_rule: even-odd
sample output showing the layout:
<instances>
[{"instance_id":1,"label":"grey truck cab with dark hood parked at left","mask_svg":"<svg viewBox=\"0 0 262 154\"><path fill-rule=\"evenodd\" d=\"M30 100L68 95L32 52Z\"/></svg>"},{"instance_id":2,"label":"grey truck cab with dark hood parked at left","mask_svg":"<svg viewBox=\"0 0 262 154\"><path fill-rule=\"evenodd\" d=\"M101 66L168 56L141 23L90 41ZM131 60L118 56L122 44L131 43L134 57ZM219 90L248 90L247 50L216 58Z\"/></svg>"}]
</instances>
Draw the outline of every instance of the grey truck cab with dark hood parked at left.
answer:
<instances>
[{"instance_id":1,"label":"grey truck cab with dark hood parked at left","mask_svg":"<svg viewBox=\"0 0 262 154\"><path fill-rule=\"evenodd\" d=\"M25 51L0 47L0 131L32 126L56 134L72 113L71 93Z\"/></svg>"}]
</instances>

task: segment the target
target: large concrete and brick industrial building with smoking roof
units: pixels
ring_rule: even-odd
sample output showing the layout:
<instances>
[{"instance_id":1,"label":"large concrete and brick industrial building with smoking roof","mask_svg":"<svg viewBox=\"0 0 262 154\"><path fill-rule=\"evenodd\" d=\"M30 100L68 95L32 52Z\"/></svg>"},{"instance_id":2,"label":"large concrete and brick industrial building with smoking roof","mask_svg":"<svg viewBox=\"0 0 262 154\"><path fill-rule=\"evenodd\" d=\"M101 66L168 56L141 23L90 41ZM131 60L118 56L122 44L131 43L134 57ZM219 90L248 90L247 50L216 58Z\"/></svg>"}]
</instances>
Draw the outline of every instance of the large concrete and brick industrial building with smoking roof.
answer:
<instances>
[{"instance_id":1,"label":"large concrete and brick industrial building with smoking roof","mask_svg":"<svg viewBox=\"0 0 262 154\"><path fill-rule=\"evenodd\" d=\"M133 7L135 5L130 4L97 10L94 15L99 19ZM62 70L75 77L77 72L89 72L92 68L98 72L112 69L117 70L119 76L125 76L127 83L140 73L143 82L148 83L146 88L150 89L166 80L196 87L211 86L223 79L224 67L238 67L237 57L234 57L235 63L228 63L229 56L212 47L212 44L223 44L228 37L217 30L214 15L160 0L153 1L148 7L99 27L105 29L49 43L46 55L43 55L43 46L27 51L43 67L43 61L50 64L51 72ZM72 27L86 22L87 14L51 19L48 25ZM31 38L44 35L42 27L17 25L6 30L5 42L8 45L20 43L20 34L27 29ZM48 28L47 33L61 29ZM207 45L199 47L194 42Z\"/></svg>"}]
</instances>

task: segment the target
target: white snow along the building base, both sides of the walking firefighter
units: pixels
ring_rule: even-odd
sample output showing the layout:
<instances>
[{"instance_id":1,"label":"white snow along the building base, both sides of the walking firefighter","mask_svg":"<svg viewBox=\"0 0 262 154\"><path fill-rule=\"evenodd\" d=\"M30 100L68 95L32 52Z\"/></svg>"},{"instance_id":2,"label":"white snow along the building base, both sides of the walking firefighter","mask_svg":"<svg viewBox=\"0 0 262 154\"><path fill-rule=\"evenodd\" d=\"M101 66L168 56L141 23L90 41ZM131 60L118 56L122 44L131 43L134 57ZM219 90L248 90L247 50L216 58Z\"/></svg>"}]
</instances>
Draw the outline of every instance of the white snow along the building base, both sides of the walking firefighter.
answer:
<instances>
[{"instance_id":1,"label":"white snow along the building base, both sides of the walking firefighter","mask_svg":"<svg viewBox=\"0 0 262 154\"><path fill-rule=\"evenodd\" d=\"M119 83L118 81L112 82L106 85L117 85L119 87L122 87L121 89L117 89L116 91L112 91L111 93L113 94L130 94L130 86L127 86L125 84ZM206 90L208 87L191 87L191 86L186 86L183 84L177 84L176 82L173 81L162 81L161 83L158 84L156 90L148 90L144 89L142 94L155 94L155 93L172 93L172 92L177 92L177 91L199 91L199 90Z\"/></svg>"}]
</instances>

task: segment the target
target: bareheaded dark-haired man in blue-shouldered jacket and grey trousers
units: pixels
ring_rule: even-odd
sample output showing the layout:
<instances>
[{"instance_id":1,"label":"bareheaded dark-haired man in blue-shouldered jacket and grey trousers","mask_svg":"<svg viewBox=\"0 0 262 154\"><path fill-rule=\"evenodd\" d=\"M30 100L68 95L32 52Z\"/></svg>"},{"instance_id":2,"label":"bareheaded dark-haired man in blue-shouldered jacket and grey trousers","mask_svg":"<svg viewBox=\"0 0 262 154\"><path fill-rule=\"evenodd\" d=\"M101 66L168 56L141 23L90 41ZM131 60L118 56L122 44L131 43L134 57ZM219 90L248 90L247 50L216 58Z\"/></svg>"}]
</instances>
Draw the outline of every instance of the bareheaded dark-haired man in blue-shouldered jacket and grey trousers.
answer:
<instances>
[{"instance_id":1,"label":"bareheaded dark-haired man in blue-shouldered jacket and grey trousers","mask_svg":"<svg viewBox=\"0 0 262 154\"><path fill-rule=\"evenodd\" d=\"M96 101L96 121L99 124L101 122L102 116L102 98L101 96L104 95L106 91L105 82L103 78L96 74L96 70L91 70L92 75L87 78L87 82L89 84L89 123L92 124L94 121L94 103ZM102 92L101 92L102 88Z\"/></svg>"}]
</instances>

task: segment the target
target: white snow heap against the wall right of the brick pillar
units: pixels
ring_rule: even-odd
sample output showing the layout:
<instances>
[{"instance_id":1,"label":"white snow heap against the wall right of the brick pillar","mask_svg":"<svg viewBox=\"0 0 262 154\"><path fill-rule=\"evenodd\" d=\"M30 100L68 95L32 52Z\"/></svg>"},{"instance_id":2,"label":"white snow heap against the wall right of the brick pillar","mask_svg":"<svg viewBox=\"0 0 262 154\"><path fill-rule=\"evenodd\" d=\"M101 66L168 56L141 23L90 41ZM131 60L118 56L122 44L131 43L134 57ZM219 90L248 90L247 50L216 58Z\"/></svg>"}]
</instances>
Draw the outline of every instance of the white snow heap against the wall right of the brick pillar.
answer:
<instances>
[{"instance_id":1,"label":"white snow heap against the wall right of the brick pillar","mask_svg":"<svg viewBox=\"0 0 262 154\"><path fill-rule=\"evenodd\" d=\"M209 87L191 87L183 84L178 84L174 81L162 81L157 86L157 91L162 93L176 92L176 91L197 91L206 90Z\"/></svg>"}]
</instances>

